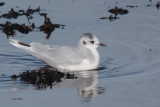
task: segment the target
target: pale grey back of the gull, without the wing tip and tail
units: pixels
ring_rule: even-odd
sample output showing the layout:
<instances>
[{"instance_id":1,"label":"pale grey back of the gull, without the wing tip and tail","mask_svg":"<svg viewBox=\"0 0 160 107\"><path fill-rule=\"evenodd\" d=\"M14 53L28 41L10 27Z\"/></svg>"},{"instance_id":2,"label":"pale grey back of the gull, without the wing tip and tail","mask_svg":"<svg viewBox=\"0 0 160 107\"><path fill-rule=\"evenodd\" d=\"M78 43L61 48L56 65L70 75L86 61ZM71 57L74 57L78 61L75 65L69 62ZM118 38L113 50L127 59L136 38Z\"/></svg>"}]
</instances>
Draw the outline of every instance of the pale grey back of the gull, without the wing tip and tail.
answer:
<instances>
[{"instance_id":1,"label":"pale grey back of the gull, without the wing tip and tail","mask_svg":"<svg viewBox=\"0 0 160 107\"><path fill-rule=\"evenodd\" d=\"M43 45L37 42L32 42L30 45L31 49L27 50L27 53L53 67L80 64L88 55L91 57L89 51L75 47Z\"/></svg>"}]
</instances>

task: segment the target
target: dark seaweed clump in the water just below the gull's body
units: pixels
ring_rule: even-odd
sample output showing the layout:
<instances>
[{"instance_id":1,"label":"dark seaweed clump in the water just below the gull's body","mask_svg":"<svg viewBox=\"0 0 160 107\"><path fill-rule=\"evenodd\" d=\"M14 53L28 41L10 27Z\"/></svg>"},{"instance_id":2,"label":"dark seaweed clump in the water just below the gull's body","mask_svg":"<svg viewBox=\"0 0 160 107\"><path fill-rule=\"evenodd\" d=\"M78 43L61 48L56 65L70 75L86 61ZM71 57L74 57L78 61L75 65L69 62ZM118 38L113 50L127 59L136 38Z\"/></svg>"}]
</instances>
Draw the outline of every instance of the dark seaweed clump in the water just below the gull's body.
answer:
<instances>
[{"instance_id":1,"label":"dark seaweed clump in the water just below the gull's body","mask_svg":"<svg viewBox=\"0 0 160 107\"><path fill-rule=\"evenodd\" d=\"M12 75L11 78L14 80L20 78L21 81L36 85L38 89L43 89L47 86L52 87L54 84L61 82L62 79L77 79L74 74L63 73L50 66L26 71L18 76Z\"/></svg>"}]
</instances>

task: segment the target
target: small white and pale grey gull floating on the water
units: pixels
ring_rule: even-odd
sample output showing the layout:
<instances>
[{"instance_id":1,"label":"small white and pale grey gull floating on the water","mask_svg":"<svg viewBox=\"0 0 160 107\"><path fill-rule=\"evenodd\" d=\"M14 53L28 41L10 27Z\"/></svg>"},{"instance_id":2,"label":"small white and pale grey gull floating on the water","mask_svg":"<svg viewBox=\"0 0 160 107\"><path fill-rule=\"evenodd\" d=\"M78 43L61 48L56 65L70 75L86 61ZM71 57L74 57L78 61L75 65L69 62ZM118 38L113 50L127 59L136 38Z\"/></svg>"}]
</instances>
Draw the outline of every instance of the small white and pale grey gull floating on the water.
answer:
<instances>
[{"instance_id":1,"label":"small white and pale grey gull floating on the water","mask_svg":"<svg viewBox=\"0 0 160 107\"><path fill-rule=\"evenodd\" d=\"M51 46L38 42L26 44L15 39L10 39L10 43L54 68L70 71L97 69L100 60L97 47L106 46L92 33L84 33L77 47Z\"/></svg>"}]
</instances>

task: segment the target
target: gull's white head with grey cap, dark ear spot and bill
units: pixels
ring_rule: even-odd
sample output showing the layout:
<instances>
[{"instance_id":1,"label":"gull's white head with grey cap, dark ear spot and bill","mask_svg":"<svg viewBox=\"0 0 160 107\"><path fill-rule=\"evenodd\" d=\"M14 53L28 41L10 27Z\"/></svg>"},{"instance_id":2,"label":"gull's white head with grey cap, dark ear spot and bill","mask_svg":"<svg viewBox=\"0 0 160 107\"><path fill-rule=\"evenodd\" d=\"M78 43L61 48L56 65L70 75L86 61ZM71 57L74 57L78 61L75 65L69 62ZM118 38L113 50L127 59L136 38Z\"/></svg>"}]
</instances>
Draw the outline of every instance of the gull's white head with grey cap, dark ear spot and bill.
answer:
<instances>
[{"instance_id":1,"label":"gull's white head with grey cap, dark ear spot and bill","mask_svg":"<svg viewBox=\"0 0 160 107\"><path fill-rule=\"evenodd\" d=\"M99 46L106 46L105 44L100 43L98 38L92 33L84 33L81 36L79 45L88 49L96 49Z\"/></svg>"}]
</instances>

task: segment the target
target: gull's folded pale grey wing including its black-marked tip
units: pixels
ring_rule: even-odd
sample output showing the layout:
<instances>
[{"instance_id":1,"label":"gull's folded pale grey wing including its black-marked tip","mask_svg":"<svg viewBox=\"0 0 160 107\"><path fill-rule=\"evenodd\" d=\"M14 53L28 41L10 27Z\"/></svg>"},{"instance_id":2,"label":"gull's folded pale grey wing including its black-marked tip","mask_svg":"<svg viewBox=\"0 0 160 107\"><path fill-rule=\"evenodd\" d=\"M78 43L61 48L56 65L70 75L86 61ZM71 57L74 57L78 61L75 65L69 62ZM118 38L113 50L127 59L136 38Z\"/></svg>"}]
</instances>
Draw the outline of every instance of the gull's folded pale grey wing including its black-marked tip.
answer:
<instances>
[{"instance_id":1,"label":"gull's folded pale grey wing including its black-marked tip","mask_svg":"<svg viewBox=\"0 0 160 107\"><path fill-rule=\"evenodd\" d=\"M59 65L79 64L85 57L79 50L73 47L50 46L37 42L26 44L14 39L11 39L10 43L56 68Z\"/></svg>"}]
</instances>

